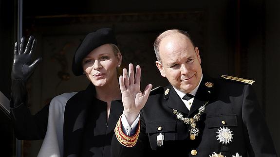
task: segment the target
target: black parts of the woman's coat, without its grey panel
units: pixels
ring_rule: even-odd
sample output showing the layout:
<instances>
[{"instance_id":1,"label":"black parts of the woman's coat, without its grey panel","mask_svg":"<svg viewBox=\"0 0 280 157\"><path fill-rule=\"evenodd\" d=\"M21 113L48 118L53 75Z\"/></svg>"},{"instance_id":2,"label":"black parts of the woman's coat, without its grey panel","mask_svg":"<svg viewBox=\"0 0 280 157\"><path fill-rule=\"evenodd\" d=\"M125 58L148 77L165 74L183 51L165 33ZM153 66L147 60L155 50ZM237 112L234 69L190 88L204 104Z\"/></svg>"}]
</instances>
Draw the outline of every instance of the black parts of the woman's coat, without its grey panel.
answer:
<instances>
[{"instance_id":1,"label":"black parts of the woman's coat, without its grey panel","mask_svg":"<svg viewBox=\"0 0 280 157\"><path fill-rule=\"evenodd\" d=\"M110 157L113 129L123 111L121 100L112 101L107 121L107 104L95 97L95 87L77 92L65 105L63 122L64 157ZM31 115L26 105L11 110L19 140L41 140L47 131L49 105Z\"/></svg>"}]
</instances>

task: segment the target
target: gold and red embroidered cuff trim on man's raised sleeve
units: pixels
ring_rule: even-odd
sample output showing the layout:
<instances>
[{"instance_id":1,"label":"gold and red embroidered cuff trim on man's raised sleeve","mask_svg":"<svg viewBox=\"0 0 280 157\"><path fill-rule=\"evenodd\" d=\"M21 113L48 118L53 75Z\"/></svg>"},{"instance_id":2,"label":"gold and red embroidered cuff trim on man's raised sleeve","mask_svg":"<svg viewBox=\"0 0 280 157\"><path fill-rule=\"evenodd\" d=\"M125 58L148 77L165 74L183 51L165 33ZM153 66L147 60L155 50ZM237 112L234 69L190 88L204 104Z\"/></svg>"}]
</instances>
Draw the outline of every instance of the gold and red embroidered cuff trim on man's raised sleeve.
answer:
<instances>
[{"instance_id":1,"label":"gold and red embroidered cuff trim on man's raised sleeve","mask_svg":"<svg viewBox=\"0 0 280 157\"><path fill-rule=\"evenodd\" d=\"M121 117L120 117L114 129L117 140L126 147L133 147L136 144L139 137L140 121L138 124L137 131L133 136L127 136L125 133L123 133L121 125L122 124L121 124Z\"/></svg>"}]
</instances>

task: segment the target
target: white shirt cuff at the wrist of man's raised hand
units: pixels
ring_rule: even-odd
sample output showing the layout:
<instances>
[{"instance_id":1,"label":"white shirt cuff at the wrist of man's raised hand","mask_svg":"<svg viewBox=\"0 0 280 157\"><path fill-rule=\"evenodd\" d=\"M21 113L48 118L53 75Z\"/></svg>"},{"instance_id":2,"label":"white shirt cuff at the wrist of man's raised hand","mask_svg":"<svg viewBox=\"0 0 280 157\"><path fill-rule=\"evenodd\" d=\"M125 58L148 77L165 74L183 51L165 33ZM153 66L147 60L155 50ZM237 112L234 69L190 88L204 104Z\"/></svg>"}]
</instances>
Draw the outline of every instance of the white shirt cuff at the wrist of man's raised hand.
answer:
<instances>
[{"instance_id":1,"label":"white shirt cuff at the wrist of man's raised hand","mask_svg":"<svg viewBox=\"0 0 280 157\"><path fill-rule=\"evenodd\" d=\"M140 119L140 113L130 126L125 114L124 113L122 114L122 118L121 118L122 130L127 136L133 136L135 134L139 119Z\"/></svg>"}]
</instances>

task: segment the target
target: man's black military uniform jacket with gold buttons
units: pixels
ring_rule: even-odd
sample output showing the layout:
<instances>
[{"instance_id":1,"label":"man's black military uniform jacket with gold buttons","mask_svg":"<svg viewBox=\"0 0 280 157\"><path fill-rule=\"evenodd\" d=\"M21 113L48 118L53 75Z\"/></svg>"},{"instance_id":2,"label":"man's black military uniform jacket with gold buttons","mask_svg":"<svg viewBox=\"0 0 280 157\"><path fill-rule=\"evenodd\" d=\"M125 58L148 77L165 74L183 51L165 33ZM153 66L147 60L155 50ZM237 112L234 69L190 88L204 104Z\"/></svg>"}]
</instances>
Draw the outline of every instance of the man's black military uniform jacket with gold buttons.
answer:
<instances>
[{"instance_id":1,"label":"man's black military uniform jacket with gold buttons","mask_svg":"<svg viewBox=\"0 0 280 157\"><path fill-rule=\"evenodd\" d=\"M213 86L207 87L205 83ZM178 120L172 109L178 110L183 117L193 118L207 101L206 109L196 123L199 134L195 140L190 140L190 125ZM226 144L217 137L223 129L227 130L227 135L233 134ZM162 146L157 145L159 133L164 135ZM237 153L242 157L277 157L250 85L204 75L190 111L171 85L159 87L151 91L141 110L136 145L125 147L115 136L112 139L114 157L209 157L214 152L224 157L235 157Z\"/></svg>"}]
</instances>

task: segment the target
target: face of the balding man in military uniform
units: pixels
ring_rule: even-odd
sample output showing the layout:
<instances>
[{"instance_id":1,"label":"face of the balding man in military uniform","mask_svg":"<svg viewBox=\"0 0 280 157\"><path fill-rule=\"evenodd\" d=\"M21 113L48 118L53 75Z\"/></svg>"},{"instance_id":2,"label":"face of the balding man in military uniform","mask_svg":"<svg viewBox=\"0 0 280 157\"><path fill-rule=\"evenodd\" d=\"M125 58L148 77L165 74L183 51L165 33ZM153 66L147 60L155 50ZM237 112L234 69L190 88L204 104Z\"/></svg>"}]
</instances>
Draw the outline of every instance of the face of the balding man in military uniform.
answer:
<instances>
[{"instance_id":1,"label":"face of the balding man in military uniform","mask_svg":"<svg viewBox=\"0 0 280 157\"><path fill-rule=\"evenodd\" d=\"M185 35L165 37L159 45L159 53L161 62L156 61L156 66L172 86L184 93L198 86L202 76L199 51Z\"/></svg>"}]
</instances>

